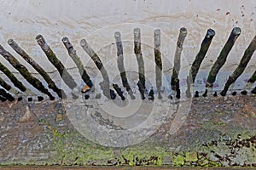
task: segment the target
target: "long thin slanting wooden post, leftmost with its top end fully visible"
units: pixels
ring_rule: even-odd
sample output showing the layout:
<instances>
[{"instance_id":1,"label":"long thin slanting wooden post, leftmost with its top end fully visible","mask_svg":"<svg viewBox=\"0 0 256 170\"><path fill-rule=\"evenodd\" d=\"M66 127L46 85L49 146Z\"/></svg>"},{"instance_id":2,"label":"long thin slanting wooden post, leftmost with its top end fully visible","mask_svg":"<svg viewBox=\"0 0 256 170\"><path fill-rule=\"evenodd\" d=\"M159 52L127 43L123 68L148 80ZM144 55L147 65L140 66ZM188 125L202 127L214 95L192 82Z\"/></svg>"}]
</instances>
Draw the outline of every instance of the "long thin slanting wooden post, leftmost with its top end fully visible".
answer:
<instances>
[{"instance_id":1,"label":"long thin slanting wooden post, leftmost with its top end fully visible","mask_svg":"<svg viewBox=\"0 0 256 170\"><path fill-rule=\"evenodd\" d=\"M22 48L20 48L20 46L15 42L15 40L9 39L8 43L11 46L11 48L13 48L15 50L15 52L17 54L20 54L20 56L23 59L25 59L28 64L32 65L32 67L36 71L38 71L38 73L44 78L45 82L48 83L49 88L51 88L53 91L55 91L55 93L58 94L58 96L60 98L66 97L65 92L56 87L55 82L53 82L53 80L49 77L47 72L44 71L44 69L40 65L38 65L38 63L36 63L36 61L34 61L28 54L26 54L26 51L24 51Z\"/></svg>"}]
</instances>

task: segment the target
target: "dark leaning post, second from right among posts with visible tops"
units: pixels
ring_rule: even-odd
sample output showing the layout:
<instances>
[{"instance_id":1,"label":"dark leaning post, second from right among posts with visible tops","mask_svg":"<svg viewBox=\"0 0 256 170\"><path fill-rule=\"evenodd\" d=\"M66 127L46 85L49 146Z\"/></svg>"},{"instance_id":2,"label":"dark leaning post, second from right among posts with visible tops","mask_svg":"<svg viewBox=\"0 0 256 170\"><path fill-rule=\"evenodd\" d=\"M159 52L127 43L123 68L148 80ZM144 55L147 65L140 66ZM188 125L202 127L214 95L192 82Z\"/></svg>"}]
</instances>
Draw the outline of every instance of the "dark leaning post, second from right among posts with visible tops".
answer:
<instances>
[{"instance_id":1,"label":"dark leaning post, second from right among posts with visible tops","mask_svg":"<svg viewBox=\"0 0 256 170\"><path fill-rule=\"evenodd\" d=\"M206 37L201 42L200 51L198 52L198 54L196 54L195 60L194 60L192 66L191 66L191 69L190 69L190 74L191 74L193 83L195 82L195 77L197 75L197 72L199 71L199 68L201 66L201 62L205 58L205 56L207 54L207 51L208 51L208 49L211 45L212 38L214 36L215 36L215 31L212 30L212 29L208 29Z\"/></svg>"}]
</instances>

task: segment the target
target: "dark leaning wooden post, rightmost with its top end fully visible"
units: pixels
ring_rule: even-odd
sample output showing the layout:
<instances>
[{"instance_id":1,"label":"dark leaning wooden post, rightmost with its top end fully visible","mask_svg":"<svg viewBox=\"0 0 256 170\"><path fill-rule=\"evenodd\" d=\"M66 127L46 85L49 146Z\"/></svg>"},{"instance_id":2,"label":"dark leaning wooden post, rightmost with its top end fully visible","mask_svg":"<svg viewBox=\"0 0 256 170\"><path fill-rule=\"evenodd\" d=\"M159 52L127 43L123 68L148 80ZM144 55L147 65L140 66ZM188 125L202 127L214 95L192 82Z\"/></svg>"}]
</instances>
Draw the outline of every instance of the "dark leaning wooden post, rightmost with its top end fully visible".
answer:
<instances>
[{"instance_id":1,"label":"dark leaning wooden post, rightmost with its top end fully visible","mask_svg":"<svg viewBox=\"0 0 256 170\"><path fill-rule=\"evenodd\" d=\"M230 54L230 50L234 46L236 39L237 37L239 37L240 33L241 29L239 27L235 27L231 31L228 41L225 43L224 48L218 55L218 59L215 61L214 65L212 65L211 71L209 72L209 76L207 78L207 87L212 87L213 82L215 82L218 75L218 71L226 62L228 54Z\"/></svg>"}]
</instances>

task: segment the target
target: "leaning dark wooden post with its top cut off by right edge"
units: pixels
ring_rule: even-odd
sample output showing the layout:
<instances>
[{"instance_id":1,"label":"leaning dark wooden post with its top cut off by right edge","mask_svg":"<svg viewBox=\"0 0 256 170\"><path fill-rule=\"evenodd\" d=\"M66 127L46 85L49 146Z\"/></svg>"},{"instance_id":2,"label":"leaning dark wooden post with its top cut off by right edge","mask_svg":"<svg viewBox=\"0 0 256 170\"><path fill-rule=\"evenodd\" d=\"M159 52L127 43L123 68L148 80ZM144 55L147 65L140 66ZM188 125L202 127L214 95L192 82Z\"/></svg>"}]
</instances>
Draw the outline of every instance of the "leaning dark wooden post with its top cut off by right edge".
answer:
<instances>
[{"instance_id":1,"label":"leaning dark wooden post with its top cut off by right edge","mask_svg":"<svg viewBox=\"0 0 256 170\"><path fill-rule=\"evenodd\" d=\"M253 38L253 41L249 44L248 48L245 50L239 65L236 67L236 70L233 71L228 81L225 83L224 89L221 91L221 95L226 95L230 85L236 82L236 79L241 76L245 68L247 67L248 62L252 58L252 55L256 49L256 36Z\"/></svg>"}]
</instances>

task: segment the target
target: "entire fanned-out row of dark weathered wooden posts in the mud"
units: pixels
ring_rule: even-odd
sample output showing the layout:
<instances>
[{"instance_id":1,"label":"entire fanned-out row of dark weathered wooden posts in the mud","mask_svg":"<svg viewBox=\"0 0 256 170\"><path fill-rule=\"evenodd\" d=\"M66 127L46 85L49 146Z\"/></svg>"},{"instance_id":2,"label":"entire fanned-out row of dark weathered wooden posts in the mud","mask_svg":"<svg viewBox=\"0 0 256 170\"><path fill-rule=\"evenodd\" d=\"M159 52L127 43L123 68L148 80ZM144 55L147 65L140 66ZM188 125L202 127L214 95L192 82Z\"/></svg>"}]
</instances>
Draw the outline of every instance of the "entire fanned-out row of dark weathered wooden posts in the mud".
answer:
<instances>
[{"instance_id":1,"label":"entire fanned-out row of dark weathered wooden posts in the mud","mask_svg":"<svg viewBox=\"0 0 256 170\"><path fill-rule=\"evenodd\" d=\"M144 61L143 61L143 53L142 53L142 47L141 47L141 31L139 28L135 28L133 30L134 34L134 54L137 58L137 65L138 65L138 77L139 80L137 82L138 90L141 94L141 98L145 99L145 69L144 69ZM203 94L203 96L207 96L207 89L212 88L213 82L216 81L216 77L218 75L218 71L222 68L224 65L231 48L234 46L237 37L241 34L241 29L239 27L234 27L233 30L230 33L230 37L227 40L227 42L224 44L224 48L222 48L220 54L218 55L217 60L212 65L212 68L208 74L207 77L207 83L206 83L206 91ZM201 42L201 48L198 54L195 56L195 60L190 68L189 76L187 77L187 90L186 90L186 96L191 97L190 93L190 85L195 82L195 77L200 69L201 63L203 59L205 58L207 54L207 50L210 47L210 44L212 42L212 38L215 35L215 31L212 29L207 30L207 35L204 37L203 41ZM185 40L185 37L187 36L187 29L182 27L179 32L179 36L177 38L177 47L174 57L174 67L172 70L172 78L171 78L171 87L172 90L176 92L176 98L179 99L181 97L181 91L179 88L179 71L180 71L180 65L181 65L181 54L183 50L183 42ZM130 84L128 82L126 72L125 72L125 65L124 65L124 55L123 55L123 45L121 40L121 34L119 31L114 33L114 38L116 41L116 47L117 47L117 64L119 69L119 74L122 82L122 86L127 91L127 94L131 97L131 99L135 99L135 96L131 90ZM60 73L61 78L63 81L67 84L69 88L72 90L77 87L77 83L74 81L73 77L68 73L65 66L61 63L61 61L57 58L53 50L49 47L47 42L45 42L45 39L42 35L38 35L36 37L36 41L38 42L38 45L42 48L44 51L44 54L49 59L52 65L55 66L57 71ZM87 71L85 71L84 65L82 61L80 60L78 54L76 53L76 50L73 48L72 43L68 40L67 37L62 38L62 42L64 46L67 48L67 52L69 56L73 59L74 63L77 65L79 69L79 74L82 78L82 80L86 83L86 86L88 86L90 91L94 91L94 84L90 79L90 76L88 75ZM13 39L9 39L8 41L11 48L15 50L17 54L20 54L20 56L26 60L27 63L32 65L32 67L38 71L38 73L44 78L44 81L48 83L48 88L51 88L59 98L66 98L67 94L64 92L63 89L58 88L55 85L55 82L49 77L48 73L44 71L44 69L38 65L37 62L35 62L32 57L30 57L25 50L20 48L20 46L15 42ZM86 42L85 39L82 39L80 42L81 47L84 49L84 51L89 54L90 58L94 61L96 64L96 67L102 74L103 81L100 82L100 87L102 89L102 93L108 98L108 99L115 99L116 94L119 95L121 99L125 99L125 96L123 95L123 92L121 88L119 88L118 84L112 84L111 86L113 88L110 88L110 80L108 77L108 71L105 69L102 60L100 57L96 54L96 52L90 48L90 45L88 42ZM227 91L230 88L230 85L234 82L236 82L237 78L241 76L245 68L247 67L248 62L253 56L253 52L256 49L256 36L253 37L252 42L250 42L249 46L245 50L243 56L241 57L241 61L239 65L236 67L236 70L233 71L233 73L228 78L228 81L225 82L224 89L220 92L222 96L226 95ZM15 57L10 54L8 51L6 51L2 45L0 45L0 54L3 56L4 59L7 59L9 63L15 67L17 71L20 72L20 75L26 79L27 82L32 84L34 88L37 88L41 93L46 94L49 96L50 100L54 100L55 97L49 92L47 88L44 87L43 83L38 80L38 78L33 77L32 74L26 69L24 65L21 65L20 62L15 59ZM161 99L161 86L162 86L162 59L161 59L161 52L160 52L160 29L154 30L154 62L155 62L155 86L158 94L158 98ZM0 71L2 71L7 77L9 77L9 80L13 82L16 88L19 90L16 90L15 88L12 88L11 85L9 85L8 82L5 82L2 77L0 77L0 100L5 101L14 101L16 96L13 96L13 94L20 94L20 91L23 93L26 93L29 89L27 89L22 82L20 82L15 75L9 71L9 69L3 65L0 62ZM248 83L253 83L256 81L256 71L253 72L253 75L249 78ZM10 93L9 93L10 92ZM256 94L256 87L253 88L251 91L252 94ZM76 98L77 95L73 94L73 98ZM217 95L216 93L214 94ZM198 92L195 92L195 97L198 96ZM169 98L172 99L172 96L170 95ZM22 99L22 96L18 96L18 100ZM38 96L38 100L43 100L44 98L41 96ZM154 90L151 89L149 92L149 99L154 99Z\"/></svg>"}]
</instances>

